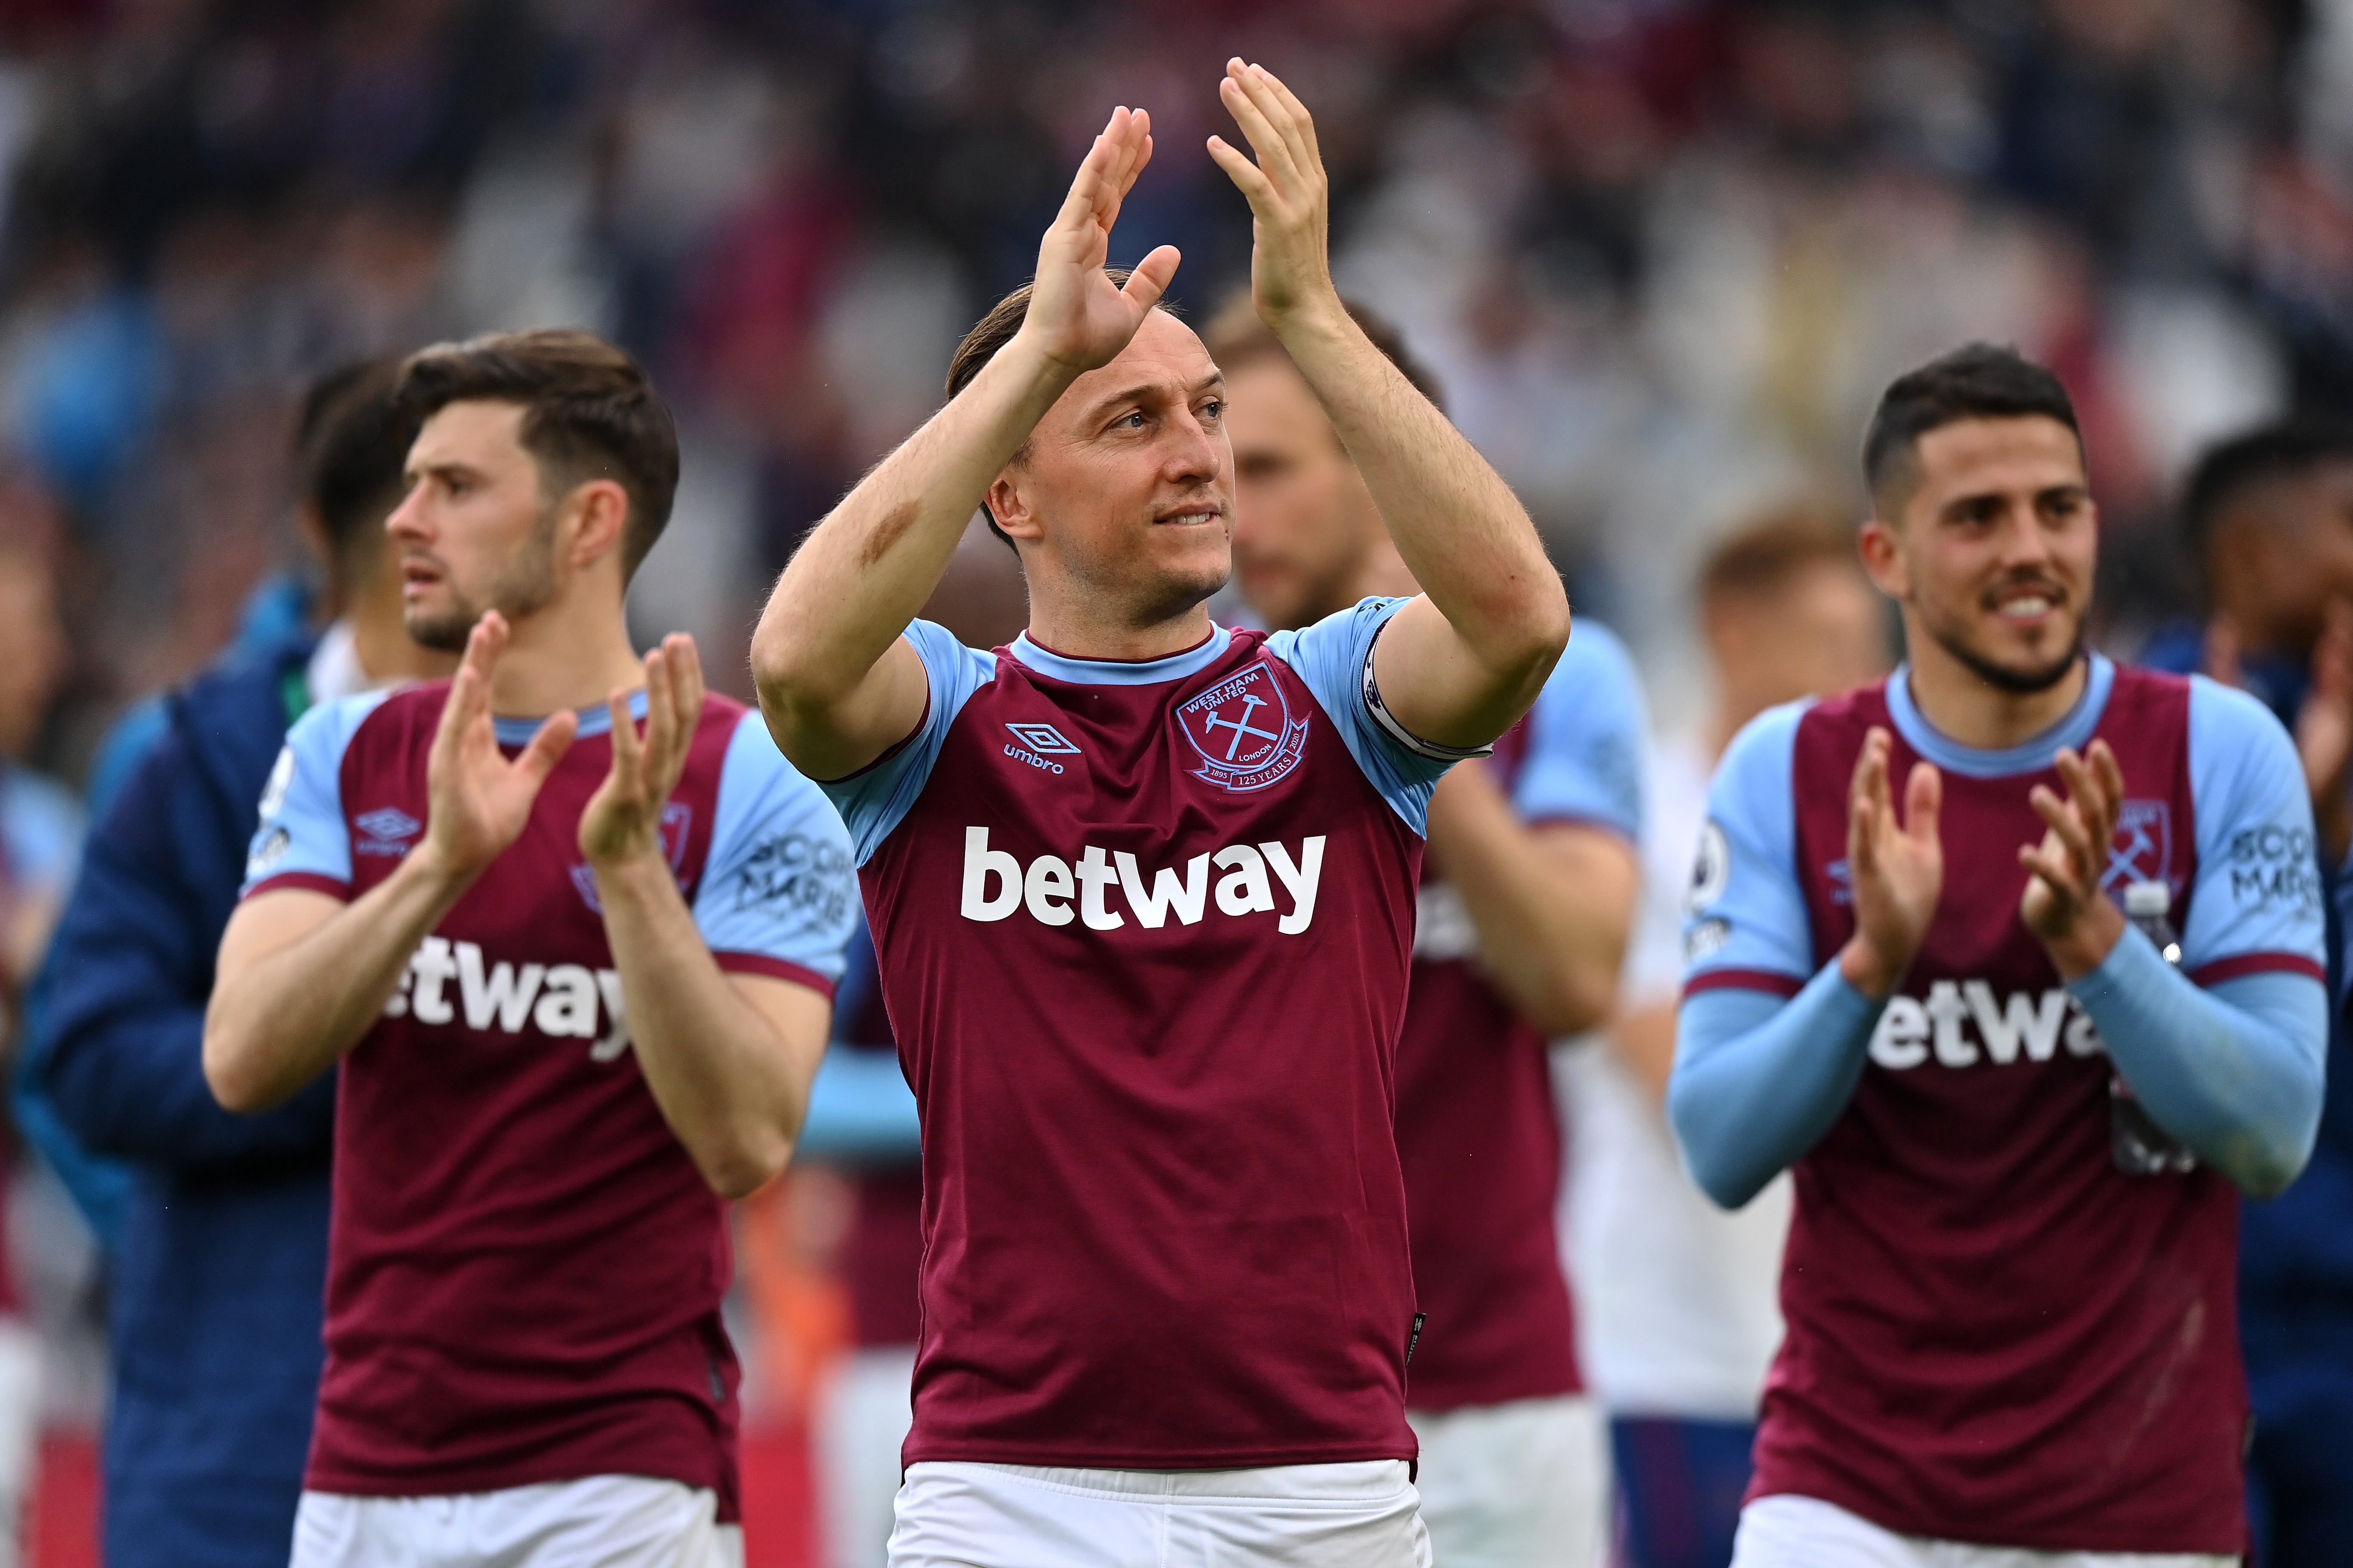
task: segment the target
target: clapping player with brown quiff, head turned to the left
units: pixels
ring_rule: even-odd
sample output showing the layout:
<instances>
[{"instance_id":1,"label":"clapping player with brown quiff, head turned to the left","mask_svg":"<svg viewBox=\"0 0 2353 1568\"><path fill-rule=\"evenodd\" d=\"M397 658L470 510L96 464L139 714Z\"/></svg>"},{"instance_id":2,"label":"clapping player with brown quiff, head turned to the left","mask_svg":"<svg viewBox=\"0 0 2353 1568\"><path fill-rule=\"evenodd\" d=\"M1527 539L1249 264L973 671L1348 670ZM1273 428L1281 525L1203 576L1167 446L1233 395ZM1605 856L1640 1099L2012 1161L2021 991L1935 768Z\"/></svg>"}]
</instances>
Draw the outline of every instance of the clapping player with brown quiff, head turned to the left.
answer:
<instances>
[{"instance_id":1,"label":"clapping player with brown quiff, head turned to the left","mask_svg":"<svg viewBox=\"0 0 2353 1568\"><path fill-rule=\"evenodd\" d=\"M294 1563L741 1561L722 1199L800 1126L847 842L692 639L631 651L678 444L624 353L400 400L407 630L464 661L294 724L205 1020L231 1110L344 1060Z\"/></svg>"}]
</instances>

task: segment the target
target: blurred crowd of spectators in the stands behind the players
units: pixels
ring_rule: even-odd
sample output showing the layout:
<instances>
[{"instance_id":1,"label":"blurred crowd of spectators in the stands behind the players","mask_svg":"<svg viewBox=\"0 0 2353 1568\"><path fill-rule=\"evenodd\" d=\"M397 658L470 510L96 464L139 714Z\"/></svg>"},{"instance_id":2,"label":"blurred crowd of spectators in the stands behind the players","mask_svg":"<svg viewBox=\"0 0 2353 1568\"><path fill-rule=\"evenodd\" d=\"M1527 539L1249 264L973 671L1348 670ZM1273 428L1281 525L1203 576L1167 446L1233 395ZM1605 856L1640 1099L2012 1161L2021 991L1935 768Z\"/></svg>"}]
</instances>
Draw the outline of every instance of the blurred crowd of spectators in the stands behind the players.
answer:
<instances>
[{"instance_id":1,"label":"blurred crowd of spectators in the stands behind the players","mask_svg":"<svg viewBox=\"0 0 2353 1568\"><path fill-rule=\"evenodd\" d=\"M522 324L664 388L685 482L633 621L748 691L772 571L936 404L1111 103L1158 129L1113 261L1179 244L1195 317L1242 280L1200 150L1228 54L1315 110L1344 289L1671 733L1706 722L1711 543L1852 515L1871 402L1937 350L2068 381L2120 654L2195 602L2195 454L2353 409L2353 0L5 0L0 750L78 788L136 698L301 614L311 376ZM7 846L31 926L73 837L42 802ZM14 992L38 931L7 936ZM784 1403L845 1335L847 1201L755 1211ZM38 1204L19 1253L71 1326L96 1269Z\"/></svg>"}]
</instances>

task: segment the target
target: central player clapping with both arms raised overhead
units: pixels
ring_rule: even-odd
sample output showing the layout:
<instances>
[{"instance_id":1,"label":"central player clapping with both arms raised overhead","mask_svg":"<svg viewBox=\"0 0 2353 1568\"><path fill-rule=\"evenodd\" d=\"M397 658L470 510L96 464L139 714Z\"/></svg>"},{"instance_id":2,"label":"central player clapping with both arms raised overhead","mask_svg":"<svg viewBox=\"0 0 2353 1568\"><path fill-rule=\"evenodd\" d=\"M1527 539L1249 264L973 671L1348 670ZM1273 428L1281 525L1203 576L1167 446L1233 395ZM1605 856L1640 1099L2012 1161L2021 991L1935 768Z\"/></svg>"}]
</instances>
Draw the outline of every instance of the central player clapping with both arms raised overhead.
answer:
<instances>
[{"instance_id":1,"label":"central player clapping with both arms raised overhead","mask_svg":"<svg viewBox=\"0 0 2353 1568\"><path fill-rule=\"evenodd\" d=\"M1424 585L1231 632L1224 381L1104 270L1125 108L1033 284L809 536L753 642L835 780L922 1110L896 1568L1428 1563L1393 1121L1431 785L1534 701L1567 599L1511 489L1348 320L1306 110L1231 61L1252 294ZM1019 548L1002 654L911 618L974 508Z\"/></svg>"}]
</instances>

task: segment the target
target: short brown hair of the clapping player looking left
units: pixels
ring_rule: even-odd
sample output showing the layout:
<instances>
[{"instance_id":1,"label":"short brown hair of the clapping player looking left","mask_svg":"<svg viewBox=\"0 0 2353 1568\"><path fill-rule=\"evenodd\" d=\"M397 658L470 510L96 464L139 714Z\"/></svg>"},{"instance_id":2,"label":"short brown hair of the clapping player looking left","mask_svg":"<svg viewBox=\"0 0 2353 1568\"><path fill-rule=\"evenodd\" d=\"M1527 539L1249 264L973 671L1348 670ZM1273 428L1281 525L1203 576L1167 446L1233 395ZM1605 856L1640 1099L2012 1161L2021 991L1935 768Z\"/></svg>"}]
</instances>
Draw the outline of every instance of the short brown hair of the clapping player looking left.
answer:
<instances>
[{"instance_id":1,"label":"short brown hair of the clapping player looking left","mask_svg":"<svg viewBox=\"0 0 2353 1568\"><path fill-rule=\"evenodd\" d=\"M645 369L591 331L494 331L435 343L400 367L400 404L421 425L452 402L522 407L522 449L541 484L614 480L628 494L621 576L638 571L671 522L678 425Z\"/></svg>"}]
</instances>

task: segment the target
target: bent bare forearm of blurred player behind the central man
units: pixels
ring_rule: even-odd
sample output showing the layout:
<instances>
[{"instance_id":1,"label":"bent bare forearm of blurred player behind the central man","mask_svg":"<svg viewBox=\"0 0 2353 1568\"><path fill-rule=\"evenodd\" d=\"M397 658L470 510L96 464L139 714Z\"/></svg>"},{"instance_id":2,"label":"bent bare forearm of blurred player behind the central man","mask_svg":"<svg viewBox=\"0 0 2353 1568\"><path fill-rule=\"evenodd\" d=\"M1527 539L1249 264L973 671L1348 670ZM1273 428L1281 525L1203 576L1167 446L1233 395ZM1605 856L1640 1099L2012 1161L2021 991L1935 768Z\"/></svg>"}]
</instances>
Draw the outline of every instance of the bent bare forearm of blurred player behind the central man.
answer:
<instances>
[{"instance_id":1,"label":"bent bare forearm of blurred player behind the central man","mask_svg":"<svg viewBox=\"0 0 2353 1568\"><path fill-rule=\"evenodd\" d=\"M1577 1034L1609 1016L1633 924L1624 844L1598 827L1532 830L1482 766L1461 764L1431 797L1431 858L1522 1018Z\"/></svg>"}]
</instances>

